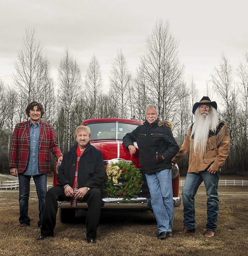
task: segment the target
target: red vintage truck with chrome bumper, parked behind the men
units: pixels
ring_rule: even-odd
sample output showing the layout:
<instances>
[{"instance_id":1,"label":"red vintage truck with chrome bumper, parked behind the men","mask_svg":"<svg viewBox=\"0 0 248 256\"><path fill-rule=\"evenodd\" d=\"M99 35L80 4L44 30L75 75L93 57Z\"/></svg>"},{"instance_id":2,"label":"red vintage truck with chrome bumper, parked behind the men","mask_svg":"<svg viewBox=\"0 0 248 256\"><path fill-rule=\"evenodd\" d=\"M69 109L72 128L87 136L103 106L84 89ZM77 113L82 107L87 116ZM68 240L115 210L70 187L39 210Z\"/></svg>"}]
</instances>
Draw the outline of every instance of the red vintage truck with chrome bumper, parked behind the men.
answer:
<instances>
[{"instance_id":1,"label":"red vintage truck with chrome bumper, parked behind the men","mask_svg":"<svg viewBox=\"0 0 248 256\"><path fill-rule=\"evenodd\" d=\"M89 126L91 130L90 143L97 149L103 152L104 164L110 166L114 163L125 162L130 165L135 165L137 169L142 172L142 167L139 165L139 150L136 143L137 150L134 155L130 155L122 144L122 138L126 133L132 132L137 126L141 125L140 121L121 119L121 118L100 118L85 120L82 125ZM57 172L59 165L54 166L54 186L57 185ZM130 212L144 212L152 210L150 205L150 194L145 179L142 175L141 192L135 198L110 198L103 193L102 211L130 211ZM123 185L123 179L118 178L117 186ZM181 199L178 197L179 190L179 169L177 165L172 168L172 187L173 187L173 201L174 207L181 204ZM59 201L61 222L67 222L68 218L75 216L76 209L87 210L88 206L85 202L79 202L76 209L70 207L70 202Z\"/></svg>"}]
</instances>

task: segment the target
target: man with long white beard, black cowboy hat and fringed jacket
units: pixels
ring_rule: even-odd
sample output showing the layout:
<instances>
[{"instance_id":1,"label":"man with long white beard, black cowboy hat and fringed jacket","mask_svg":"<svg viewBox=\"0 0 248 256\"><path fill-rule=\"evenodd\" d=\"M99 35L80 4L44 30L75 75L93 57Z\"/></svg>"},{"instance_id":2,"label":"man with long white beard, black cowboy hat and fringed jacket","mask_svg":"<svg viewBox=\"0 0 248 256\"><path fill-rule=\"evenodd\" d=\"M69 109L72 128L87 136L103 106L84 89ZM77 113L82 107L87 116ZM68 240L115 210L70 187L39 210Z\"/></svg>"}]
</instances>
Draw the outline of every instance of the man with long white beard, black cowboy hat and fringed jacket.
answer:
<instances>
[{"instance_id":1,"label":"man with long white beard, black cowboy hat and fringed jacket","mask_svg":"<svg viewBox=\"0 0 248 256\"><path fill-rule=\"evenodd\" d=\"M172 162L181 160L189 151L189 167L182 190L182 234L195 232L194 196L204 181L207 194L207 223L205 236L215 236L219 213L218 183L222 165L229 154L230 137L227 125L219 121L217 103L204 96L193 105L194 123L189 127L177 155Z\"/></svg>"}]
</instances>

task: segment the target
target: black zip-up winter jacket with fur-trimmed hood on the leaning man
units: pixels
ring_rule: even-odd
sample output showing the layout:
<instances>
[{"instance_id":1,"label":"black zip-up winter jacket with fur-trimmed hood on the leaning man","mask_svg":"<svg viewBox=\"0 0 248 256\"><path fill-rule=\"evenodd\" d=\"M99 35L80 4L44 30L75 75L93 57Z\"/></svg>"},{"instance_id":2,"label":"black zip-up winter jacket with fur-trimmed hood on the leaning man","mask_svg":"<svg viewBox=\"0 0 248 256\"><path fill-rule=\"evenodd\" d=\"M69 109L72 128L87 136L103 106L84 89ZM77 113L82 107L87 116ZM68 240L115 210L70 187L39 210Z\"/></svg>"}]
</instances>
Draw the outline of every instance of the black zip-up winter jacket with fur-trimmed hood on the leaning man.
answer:
<instances>
[{"instance_id":1,"label":"black zip-up winter jacket with fur-trimmed hood on the leaning man","mask_svg":"<svg viewBox=\"0 0 248 256\"><path fill-rule=\"evenodd\" d=\"M139 164L144 173L150 174L172 168L171 159L179 150L171 132L172 128L172 123L168 121L157 119L149 124L146 120L143 125L123 137L123 144L128 151L128 146L137 142Z\"/></svg>"}]
</instances>

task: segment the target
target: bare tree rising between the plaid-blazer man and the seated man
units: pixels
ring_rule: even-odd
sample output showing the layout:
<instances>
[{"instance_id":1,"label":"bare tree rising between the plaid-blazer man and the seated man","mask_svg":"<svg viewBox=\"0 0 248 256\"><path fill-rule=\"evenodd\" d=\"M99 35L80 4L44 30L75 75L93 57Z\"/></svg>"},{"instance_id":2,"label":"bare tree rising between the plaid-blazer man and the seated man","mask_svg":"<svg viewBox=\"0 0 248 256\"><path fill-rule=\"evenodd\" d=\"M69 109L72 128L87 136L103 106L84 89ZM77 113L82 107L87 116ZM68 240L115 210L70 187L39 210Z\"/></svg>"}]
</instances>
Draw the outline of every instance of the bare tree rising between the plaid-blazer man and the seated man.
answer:
<instances>
[{"instance_id":1,"label":"bare tree rising between the plaid-blazer man and the seated man","mask_svg":"<svg viewBox=\"0 0 248 256\"><path fill-rule=\"evenodd\" d=\"M72 57L69 50L66 49L59 65L59 106L60 115L64 114L66 129L65 149L70 150L72 142L72 120L76 109L77 96L81 88L81 71L76 59Z\"/></svg>"}]
</instances>

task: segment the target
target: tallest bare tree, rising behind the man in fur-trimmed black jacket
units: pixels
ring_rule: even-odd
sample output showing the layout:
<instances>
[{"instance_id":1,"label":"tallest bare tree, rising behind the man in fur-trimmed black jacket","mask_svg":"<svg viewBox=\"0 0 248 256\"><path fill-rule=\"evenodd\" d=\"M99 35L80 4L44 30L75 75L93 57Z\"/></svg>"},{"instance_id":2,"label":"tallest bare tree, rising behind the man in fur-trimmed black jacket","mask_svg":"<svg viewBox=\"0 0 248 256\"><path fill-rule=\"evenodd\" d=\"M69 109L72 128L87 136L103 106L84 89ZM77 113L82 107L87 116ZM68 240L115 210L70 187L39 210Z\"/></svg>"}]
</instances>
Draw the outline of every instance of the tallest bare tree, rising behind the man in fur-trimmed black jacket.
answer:
<instances>
[{"instance_id":1,"label":"tallest bare tree, rising behind the man in fur-trimmed black jacket","mask_svg":"<svg viewBox=\"0 0 248 256\"><path fill-rule=\"evenodd\" d=\"M158 105L162 119L173 119L178 92L185 83L184 66L178 59L178 42L170 33L169 22L157 21L145 46L144 74L151 89L150 98Z\"/></svg>"}]
</instances>

